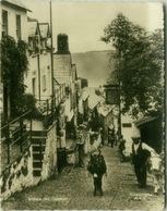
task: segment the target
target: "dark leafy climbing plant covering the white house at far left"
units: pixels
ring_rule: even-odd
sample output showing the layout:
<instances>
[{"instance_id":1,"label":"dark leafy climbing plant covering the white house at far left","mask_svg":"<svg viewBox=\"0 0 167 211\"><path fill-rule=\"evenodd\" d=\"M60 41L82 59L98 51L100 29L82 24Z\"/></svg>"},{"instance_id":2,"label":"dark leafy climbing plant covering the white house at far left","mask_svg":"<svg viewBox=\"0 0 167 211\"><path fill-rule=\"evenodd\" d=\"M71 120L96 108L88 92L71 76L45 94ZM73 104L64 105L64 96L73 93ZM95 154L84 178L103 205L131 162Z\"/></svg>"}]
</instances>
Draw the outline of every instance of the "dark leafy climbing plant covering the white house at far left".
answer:
<instances>
[{"instance_id":1,"label":"dark leafy climbing plant covering the white house at far left","mask_svg":"<svg viewBox=\"0 0 167 211\"><path fill-rule=\"evenodd\" d=\"M24 73L27 70L27 45L17 42L10 36L1 40L1 70L3 82L4 117L15 117L23 112L23 96L25 91ZM10 104L9 104L10 102Z\"/></svg>"}]
</instances>

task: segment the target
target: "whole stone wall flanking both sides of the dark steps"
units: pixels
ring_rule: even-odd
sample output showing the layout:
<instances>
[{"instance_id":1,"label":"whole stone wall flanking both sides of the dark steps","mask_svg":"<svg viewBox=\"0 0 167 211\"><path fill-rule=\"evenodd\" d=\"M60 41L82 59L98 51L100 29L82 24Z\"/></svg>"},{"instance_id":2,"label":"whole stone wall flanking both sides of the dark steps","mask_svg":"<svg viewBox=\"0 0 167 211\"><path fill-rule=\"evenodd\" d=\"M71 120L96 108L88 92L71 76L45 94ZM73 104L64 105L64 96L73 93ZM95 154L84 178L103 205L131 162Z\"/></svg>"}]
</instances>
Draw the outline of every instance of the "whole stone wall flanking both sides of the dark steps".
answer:
<instances>
[{"instance_id":1,"label":"whole stone wall flanking both sides of the dark steps","mask_svg":"<svg viewBox=\"0 0 167 211\"><path fill-rule=\"evenodd\" d=\"M33 150L29 146L26 151L11 163L0 176L1 200L8 199L16 191L35 186L39 181L49 178L57 170L57 137L56 122L47 133L46 149L41 169L41 176L33 176Z\"/></svg>"}]
</instances>

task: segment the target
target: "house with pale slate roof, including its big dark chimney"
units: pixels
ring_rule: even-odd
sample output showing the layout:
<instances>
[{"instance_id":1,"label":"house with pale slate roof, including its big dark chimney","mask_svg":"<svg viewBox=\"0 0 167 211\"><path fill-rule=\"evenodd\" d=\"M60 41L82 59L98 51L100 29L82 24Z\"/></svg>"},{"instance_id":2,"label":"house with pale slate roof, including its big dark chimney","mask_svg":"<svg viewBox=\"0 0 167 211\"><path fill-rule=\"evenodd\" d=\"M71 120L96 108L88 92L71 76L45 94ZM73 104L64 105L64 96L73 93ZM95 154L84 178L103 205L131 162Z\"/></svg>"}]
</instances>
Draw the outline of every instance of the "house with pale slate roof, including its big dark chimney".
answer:
<instances>
[{"instance_id":1,"label":"house with pale slate roof, including its big dark chimney","mask_svg":"<svg viewBox=\"0 0 167 211\"><path fill-rule=\"evenodd\" d=\"M76 66L72 63L68 36L64 34L58 35L57 45L58 50L53 54L53 78L57 86L65 86L65 136L72 138L77 124Z\"/></svg>"}]
</instances>

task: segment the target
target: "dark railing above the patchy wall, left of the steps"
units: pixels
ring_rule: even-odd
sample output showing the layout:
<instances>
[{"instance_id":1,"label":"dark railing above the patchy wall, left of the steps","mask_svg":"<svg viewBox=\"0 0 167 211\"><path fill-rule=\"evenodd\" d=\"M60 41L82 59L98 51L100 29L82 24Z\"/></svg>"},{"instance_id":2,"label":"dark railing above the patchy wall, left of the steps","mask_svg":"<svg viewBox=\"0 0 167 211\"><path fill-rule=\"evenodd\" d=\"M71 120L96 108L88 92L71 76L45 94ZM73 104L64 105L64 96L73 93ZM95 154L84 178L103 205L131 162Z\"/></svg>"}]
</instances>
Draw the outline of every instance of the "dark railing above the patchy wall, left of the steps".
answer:
<instances>
[{"instance_id":1,"label":"dark railing above the patchy wall, left of the steps","mask_svg":"<svg viewBox=\"0 0 167 211\"><path fill-rule=\"evenodd\" d=\"M28 148L32 139L32 120L25 122L31 111L9 122L0 128L1 170L14 162Z\"/></svg>"}]
</instances>

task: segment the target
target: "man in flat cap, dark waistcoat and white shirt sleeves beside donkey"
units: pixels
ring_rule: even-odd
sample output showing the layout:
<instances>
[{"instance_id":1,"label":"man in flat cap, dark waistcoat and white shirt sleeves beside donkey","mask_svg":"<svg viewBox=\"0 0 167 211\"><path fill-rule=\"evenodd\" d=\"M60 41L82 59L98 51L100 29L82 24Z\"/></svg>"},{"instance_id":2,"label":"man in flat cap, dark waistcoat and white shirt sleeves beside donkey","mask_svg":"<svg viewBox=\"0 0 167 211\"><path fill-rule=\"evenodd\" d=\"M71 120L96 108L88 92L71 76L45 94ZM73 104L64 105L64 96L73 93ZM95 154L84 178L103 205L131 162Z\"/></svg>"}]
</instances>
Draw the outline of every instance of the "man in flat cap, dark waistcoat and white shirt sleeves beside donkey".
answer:
<instances>
[{"instance_id":1,"label":"man in flat cap, dark waistcoat and white shirt sleeves beside donkey","mask_svg":"<svg viewBox=\"0 0 167 211\"><path fill-rule=\"evenodd\" d=\"M155 150L147 146L145 142L141 142L140 136L132 137L132 164L134 165L135 176L139 183L139 187L146 187L146 171L147 160L151 154L156 153Z\"/></svg>"}]
</instances>

